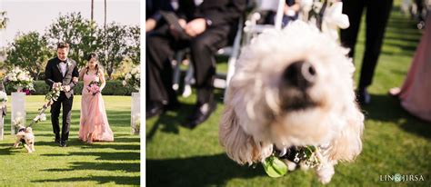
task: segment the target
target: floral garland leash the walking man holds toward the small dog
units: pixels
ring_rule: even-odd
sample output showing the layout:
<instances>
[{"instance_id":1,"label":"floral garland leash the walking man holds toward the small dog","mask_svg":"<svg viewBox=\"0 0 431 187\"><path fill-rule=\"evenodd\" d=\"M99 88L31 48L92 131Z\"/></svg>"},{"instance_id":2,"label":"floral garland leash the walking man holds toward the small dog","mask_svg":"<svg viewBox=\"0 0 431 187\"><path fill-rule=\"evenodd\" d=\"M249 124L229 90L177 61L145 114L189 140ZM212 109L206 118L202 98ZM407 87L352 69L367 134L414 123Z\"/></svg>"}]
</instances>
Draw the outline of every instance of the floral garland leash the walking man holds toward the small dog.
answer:
<instances>
[{"instance_id":1,"label":"floral garland leash the walking man holds toward the small dog","mask_svg":"<svg viewBox=\"0 0 431 187\"><path fill-rule=\"evenodd\" d=\"M39 111L39 113L35 116L32 123L28 125L29 127L31 127L35 123L46 120L45 110L55 101L57 101L58 97L60 97L61 91L63 91L61 83L53 84L53 89L51 89L48 94L45 94L45 101L47 103L45 103L41 108L37 110Z\"/></svg>"}]
</instances>

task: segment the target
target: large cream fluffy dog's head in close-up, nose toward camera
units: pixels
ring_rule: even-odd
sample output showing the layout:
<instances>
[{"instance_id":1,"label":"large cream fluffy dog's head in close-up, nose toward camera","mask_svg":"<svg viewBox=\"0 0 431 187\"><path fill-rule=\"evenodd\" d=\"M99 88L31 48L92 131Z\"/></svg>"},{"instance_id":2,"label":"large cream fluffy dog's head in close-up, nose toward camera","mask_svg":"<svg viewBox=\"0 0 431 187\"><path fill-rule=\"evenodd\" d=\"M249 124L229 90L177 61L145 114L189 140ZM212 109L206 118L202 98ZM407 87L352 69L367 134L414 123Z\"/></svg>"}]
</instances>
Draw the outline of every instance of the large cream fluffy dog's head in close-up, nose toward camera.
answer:
<instances>
[{"instance_id":1,"label":"large cream fluffy dog's head in close-up, nose toward camera","mask_svg":"<svg viewBox=\"0 0 431 187\"><path fill-rule=\"evenodd\" d=\"M300 21L257 36L243 49L227 90L219 127L227 155L252 164L275 150L313 145L319 181L330 182L336 162L362 150L364 115L347 52ZM285 162L290 170L292 162Z\"/></svg>"}]
</instances>

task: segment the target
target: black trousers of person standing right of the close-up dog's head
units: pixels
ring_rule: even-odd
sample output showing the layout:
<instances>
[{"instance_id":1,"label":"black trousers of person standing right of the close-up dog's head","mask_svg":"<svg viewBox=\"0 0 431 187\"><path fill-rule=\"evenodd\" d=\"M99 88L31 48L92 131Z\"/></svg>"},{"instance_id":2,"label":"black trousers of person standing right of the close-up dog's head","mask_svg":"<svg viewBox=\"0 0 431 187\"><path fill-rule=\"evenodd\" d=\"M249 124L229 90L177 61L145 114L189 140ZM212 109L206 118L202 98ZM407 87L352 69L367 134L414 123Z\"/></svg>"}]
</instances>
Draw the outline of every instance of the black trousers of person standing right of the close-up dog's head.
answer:
<instances>
[{"instance_id":1,"label":"black trousers of person standing right of the close-up dog's head","mask_svg":"<svg viewBox=\"0 0 431 187\"><path fill-rule=\"evenodd\" d=\"M348 15L350 26L341 30L340 39L344 46L351 49L349 57L354 57L361 16L366 7L366 50L362 61L359 88L366 88L373 82L392 4L393 0L343 1L343 13Z\"/></svg>"}]
</instances>

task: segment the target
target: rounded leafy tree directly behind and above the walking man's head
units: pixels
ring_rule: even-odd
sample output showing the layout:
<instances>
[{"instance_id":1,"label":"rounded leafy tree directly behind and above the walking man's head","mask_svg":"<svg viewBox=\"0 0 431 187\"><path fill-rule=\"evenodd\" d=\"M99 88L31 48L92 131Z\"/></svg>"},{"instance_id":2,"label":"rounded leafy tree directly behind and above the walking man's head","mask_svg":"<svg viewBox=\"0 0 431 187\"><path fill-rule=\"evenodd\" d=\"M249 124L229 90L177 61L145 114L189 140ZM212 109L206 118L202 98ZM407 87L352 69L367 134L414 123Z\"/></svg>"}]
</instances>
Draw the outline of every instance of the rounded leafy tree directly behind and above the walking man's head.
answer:
<instances>
[{"instance_id":1,"label":"rounded leafy tree directly behind and above the walking man's head","mask_svg":"<svg viewBox=\"0 0 431 187\"><path fill-rule=\"evenodd\" d=\"M48 27L46 37L53 49L58 42L70 44L69 57L78 66L84 66L87 54L97 51L101 44L97 44L96 36L92 34L95 23L86 20L80 13L60 15L55 23Z\"/></svg>"}]
</instances>

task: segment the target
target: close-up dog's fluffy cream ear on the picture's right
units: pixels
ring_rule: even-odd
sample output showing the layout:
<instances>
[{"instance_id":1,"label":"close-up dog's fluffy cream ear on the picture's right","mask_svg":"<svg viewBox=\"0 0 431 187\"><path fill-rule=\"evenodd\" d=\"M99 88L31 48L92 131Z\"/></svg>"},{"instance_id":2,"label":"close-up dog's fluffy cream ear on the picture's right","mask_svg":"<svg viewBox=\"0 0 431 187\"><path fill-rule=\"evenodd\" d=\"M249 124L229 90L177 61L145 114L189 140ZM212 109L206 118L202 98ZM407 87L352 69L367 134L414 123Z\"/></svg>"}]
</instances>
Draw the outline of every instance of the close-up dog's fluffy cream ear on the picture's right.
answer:
<instances>
[{"instance_id":1,"label":"close-up dog's fluffy cream ear on the picture's right","mask_svg":"<svg viewBox=\"0 0 431 187\"><path fill-rule=\"evenodd\" d=\"M356 104L347 109L346 113L346 125L332 142L331 160L353 161L362 151L364 114Z\"/></svg>"}]
</instances>

